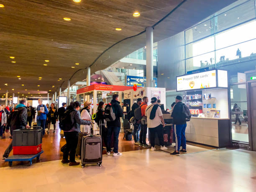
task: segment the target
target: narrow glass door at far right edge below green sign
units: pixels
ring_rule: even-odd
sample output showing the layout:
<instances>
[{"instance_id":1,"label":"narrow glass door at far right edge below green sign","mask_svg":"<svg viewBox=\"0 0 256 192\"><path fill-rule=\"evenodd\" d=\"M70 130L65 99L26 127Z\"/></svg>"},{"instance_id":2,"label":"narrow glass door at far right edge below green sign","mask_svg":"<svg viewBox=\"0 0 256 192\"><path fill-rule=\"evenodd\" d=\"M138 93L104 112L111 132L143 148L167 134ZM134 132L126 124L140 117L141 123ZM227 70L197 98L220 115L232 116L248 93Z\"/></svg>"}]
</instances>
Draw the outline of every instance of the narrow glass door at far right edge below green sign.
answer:
<instances>
[{"instance_id":1,"label":"narrow glass door at far right edge below green sign","mask_svg":"<svg viewBox=\"0 0 256 192\"><path fill-rule=\"evenodd\" d=\"M256 82L248 82L248 131L252 151L256 151Z\"/></svg>"}]
</instances>

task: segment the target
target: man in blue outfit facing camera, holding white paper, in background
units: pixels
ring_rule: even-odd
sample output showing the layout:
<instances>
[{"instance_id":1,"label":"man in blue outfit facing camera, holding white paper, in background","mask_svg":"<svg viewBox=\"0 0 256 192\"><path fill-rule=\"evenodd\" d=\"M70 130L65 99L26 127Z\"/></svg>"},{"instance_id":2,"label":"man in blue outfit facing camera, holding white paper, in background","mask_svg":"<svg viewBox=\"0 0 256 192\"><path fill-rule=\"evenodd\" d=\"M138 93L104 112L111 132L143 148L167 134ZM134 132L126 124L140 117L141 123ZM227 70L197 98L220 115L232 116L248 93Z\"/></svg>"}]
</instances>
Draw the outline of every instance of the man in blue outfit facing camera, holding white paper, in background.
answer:
<instances>
[{"instance_id":1,"label":"man in blue outfit facing camera, holding white paper, in background","mask_svg":"<svg viewBox=\"0 0 256 192\"><path fill-rule=\"evenodd\" d=\"M43 100L38 99L38 106L36 108L37 116L36 116L36 124L38 127L42 127L42 136L45 133L45 125L46 125L46 114L48 114L48 109L45 105L43 105Z\"/></svg>"}]
</instances>

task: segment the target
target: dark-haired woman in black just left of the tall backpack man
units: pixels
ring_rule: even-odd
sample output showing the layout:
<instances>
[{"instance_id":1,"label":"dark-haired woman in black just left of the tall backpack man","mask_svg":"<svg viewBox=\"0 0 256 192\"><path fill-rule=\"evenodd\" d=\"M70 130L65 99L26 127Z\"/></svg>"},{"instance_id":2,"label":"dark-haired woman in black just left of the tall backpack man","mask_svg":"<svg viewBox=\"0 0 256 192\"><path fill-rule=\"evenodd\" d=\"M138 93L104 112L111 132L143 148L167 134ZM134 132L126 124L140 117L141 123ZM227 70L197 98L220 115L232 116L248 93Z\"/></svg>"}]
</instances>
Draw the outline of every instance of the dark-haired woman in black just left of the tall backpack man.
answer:
<instances>
[{"instance_id":1,"label":"dark-haired woman in black just left of the tall backpack man","mask_svg":"<svg viewBox=\"0 0 256 192\"><path fill-rule=\"evenodd\" d=\"M102 141L104 141L105 146L107 146L107 134L108 134L108 130L105 127L105 119L104 119L104 109L105 109L105 103L103 101L100 101L99 105L98 105L98 109L97 109L97 124L100 128L101 131L101 138ZM101 124L100 124L101 122ZM103 145L102 145L102 150L103 150Z\"/></svg>"}]
</instances>

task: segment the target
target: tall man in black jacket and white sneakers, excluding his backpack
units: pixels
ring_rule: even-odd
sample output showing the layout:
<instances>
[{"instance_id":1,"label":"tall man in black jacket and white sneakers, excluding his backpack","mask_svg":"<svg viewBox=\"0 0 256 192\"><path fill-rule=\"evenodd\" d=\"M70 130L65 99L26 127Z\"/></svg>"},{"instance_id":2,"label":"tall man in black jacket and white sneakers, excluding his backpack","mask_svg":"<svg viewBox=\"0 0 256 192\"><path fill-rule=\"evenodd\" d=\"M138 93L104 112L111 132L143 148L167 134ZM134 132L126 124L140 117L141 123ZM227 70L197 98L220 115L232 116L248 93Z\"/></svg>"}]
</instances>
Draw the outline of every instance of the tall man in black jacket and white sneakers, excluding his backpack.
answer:
<instances>
[{"instance_id":1,"label":"tall man in black jacket and white sneakers, excluding his backpack","mask_svg":"<svg viewBox=\"0 0 256 192\"><path fill-rule=\"evenodd\" d=\"M114 154L113 156L121 156L122 153L118 152L118 137L121 129L121 121L120 118L123 117L123 110L121 108L119 96L118 94L114 94L112 97L112 100L110 102L111 108L113 108L113 112L115 113L115 120L113 121L107 121L107 127L108 127L108 144L107 144L107 155L110 155L110 142L111 142L111 136L112 133L114 133ZM108 105L107 105L108 106ZM106 106L106 108L107 108ZM105 110L106 110L105 108Z\"/></svg>"}]
</instances>

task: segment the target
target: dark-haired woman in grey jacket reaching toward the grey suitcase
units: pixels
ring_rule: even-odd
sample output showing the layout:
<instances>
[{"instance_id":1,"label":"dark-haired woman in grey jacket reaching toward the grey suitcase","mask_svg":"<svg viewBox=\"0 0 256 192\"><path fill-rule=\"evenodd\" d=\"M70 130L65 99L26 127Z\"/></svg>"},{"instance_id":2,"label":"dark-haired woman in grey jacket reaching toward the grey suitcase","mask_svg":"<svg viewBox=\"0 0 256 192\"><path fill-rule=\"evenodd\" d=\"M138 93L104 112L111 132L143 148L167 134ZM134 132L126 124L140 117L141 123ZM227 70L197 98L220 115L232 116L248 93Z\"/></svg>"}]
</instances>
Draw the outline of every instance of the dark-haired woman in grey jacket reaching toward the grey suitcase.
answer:
<instances>
[{"instance_id":1,"label":"dark-haired woman in grey jacket reaching toward the grey suitcase","mask_svg":"<svg viewBox=\"0 0 256 192\"><path fill-rule=\"evenodd\" d=\"M69 163L69 166L79 165L79 162L75 161L76 148L78 143L78 135L80 132L80 125L90 125L91 121L83 120L80 117L80 103L78 101L70 103L65 113L69 113L71 117L72 128L69 131L64 131L64 136L67 142L67 146L64 149L63 159L61 163ZM69 160L68 160L69 157Z\"/></svg>"}]
</instances>

